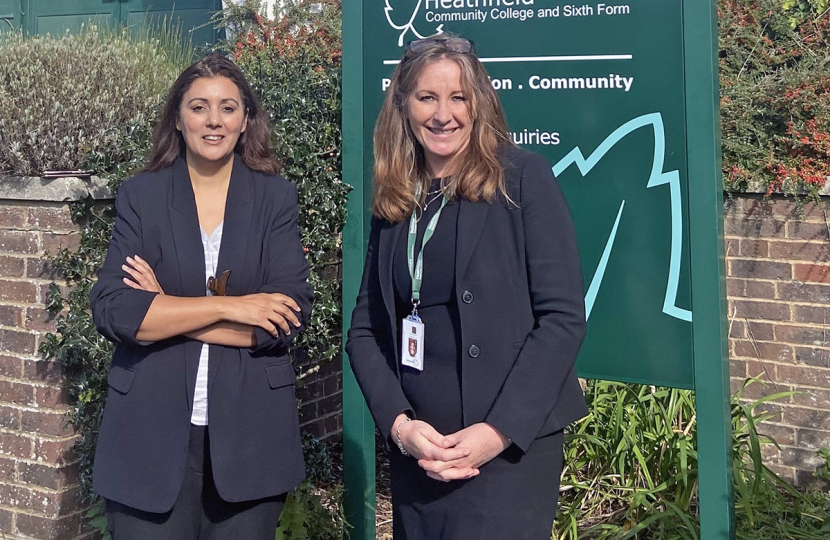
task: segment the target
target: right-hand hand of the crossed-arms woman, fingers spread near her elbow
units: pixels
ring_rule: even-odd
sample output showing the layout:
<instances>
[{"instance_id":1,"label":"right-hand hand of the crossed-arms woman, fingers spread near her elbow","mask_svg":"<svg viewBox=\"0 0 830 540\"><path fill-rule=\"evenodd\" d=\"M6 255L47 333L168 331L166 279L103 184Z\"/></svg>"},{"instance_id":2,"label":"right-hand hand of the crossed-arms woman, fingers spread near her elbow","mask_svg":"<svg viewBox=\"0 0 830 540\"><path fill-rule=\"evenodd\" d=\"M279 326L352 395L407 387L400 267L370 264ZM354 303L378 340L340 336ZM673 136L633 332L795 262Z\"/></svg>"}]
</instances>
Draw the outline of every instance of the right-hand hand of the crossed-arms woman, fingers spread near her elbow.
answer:
<instances>
[{"instance_id":1,"label":"right-hand hand of the crossed-arms woman, fingers spread near her elbow","mask_svg":"<svg viewBox=\"0 0 830 540\"><path fill-rule=\"evenodd\" d=\"M225 296L232 302L231 322L259 326L273 336L282 330L291 335L291 327L298 328L300 306L293 298L281 293L256 293L245 296Z\"/></svg>"}]
</instances>

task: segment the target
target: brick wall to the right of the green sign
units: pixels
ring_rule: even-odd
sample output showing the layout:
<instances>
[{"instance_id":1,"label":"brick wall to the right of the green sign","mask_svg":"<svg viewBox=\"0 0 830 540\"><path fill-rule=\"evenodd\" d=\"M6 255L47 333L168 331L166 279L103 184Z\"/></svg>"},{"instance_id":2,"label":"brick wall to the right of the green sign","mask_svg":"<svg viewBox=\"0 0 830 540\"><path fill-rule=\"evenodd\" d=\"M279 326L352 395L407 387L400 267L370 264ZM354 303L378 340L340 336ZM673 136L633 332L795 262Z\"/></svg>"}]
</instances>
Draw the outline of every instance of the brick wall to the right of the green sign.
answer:
<instances>
[{"instance_id":1,"label":"brick wall to the right of the green sign","mask_svg":"<svg viewBox=\"0 0 830 540\"><path fill-rule=\"evenodd\" d=\"M724 209L729 351L733 390L762 375L745 396L792 397L764 406L778 413L762 432L767 463L798 484L812 480L830 448L830 199L799 212L791 200L742 196Z\"/></svg>"}]
</instances>

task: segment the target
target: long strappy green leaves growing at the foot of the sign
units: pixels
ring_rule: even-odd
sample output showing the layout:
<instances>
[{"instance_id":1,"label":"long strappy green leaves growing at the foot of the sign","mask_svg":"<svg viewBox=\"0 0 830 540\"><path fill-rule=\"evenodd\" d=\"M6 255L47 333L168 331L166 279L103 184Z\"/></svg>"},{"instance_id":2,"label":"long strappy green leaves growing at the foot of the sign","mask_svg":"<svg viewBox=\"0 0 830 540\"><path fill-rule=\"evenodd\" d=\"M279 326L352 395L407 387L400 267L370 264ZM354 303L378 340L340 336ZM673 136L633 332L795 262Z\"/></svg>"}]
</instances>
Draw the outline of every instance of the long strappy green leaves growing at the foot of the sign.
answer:
<instances>
[{"instance_id":1,"label":"long strappy green leaves growing at the foot of the sign","mask_svg":"<svg viewBox=\"0 0 830 540\"><path fill-rule=\"evenodd\" d=\"M746 384L761 384L757 380ZM746 386L746 385L745 385ZM771 414L732 398L736 523L742 539L827 538L830 497L798 491L767 468L758 432ZM699 538L693 394L687 390L590 381L590 415L570 429L557 540Z\"/></svg>"}]
</instances>

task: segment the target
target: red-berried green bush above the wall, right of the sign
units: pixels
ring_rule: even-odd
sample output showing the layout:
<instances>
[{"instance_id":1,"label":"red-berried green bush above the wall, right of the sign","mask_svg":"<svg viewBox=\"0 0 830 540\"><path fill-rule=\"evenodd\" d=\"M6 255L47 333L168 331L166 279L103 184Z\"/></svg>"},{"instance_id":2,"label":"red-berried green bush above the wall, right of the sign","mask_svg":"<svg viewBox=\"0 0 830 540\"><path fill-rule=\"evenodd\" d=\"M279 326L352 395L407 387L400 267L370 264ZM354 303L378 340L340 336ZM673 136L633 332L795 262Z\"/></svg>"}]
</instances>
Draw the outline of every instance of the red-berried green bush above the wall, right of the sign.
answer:
<instances>
[{"instance_id":1,"label":"red-berried green bush above the wall, right of the sign","mask_svg":"<svg viewBox=\"0 0 830 540\"><path fill-rule=\"evenodd\" d=\"M752 185L816 198L824 186L830 173L830 17L816 11L823 3L787 2L781 9L780 0L719 1L727 189Z\"/></svg>"}]
</instances>

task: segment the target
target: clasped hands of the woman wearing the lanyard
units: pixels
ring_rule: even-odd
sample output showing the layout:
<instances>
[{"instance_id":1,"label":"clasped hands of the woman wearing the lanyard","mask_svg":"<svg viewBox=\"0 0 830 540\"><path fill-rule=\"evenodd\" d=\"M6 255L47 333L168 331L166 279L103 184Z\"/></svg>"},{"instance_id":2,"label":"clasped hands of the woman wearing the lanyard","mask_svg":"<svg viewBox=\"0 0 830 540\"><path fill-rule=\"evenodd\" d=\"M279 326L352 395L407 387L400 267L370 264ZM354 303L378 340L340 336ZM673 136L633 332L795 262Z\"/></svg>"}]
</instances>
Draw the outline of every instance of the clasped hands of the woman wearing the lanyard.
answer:
<instances>
[{"instance_id":1,"label":"clasped hands of the woman wearing the lanyard","mask_svg":"<svg viewBox=\"0 0 830 540\"><path fill-rule=\"evenodd\" d=\"M486 422L442 435L421 420L407 422L401 414L393 424L392 435L397 433L404 449L418 460L427 476L442 482L478 476L482 465L510 446L510 439Z\"/></svg>"}]
</instances>

